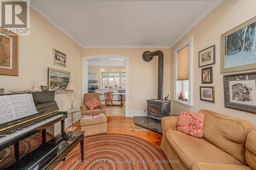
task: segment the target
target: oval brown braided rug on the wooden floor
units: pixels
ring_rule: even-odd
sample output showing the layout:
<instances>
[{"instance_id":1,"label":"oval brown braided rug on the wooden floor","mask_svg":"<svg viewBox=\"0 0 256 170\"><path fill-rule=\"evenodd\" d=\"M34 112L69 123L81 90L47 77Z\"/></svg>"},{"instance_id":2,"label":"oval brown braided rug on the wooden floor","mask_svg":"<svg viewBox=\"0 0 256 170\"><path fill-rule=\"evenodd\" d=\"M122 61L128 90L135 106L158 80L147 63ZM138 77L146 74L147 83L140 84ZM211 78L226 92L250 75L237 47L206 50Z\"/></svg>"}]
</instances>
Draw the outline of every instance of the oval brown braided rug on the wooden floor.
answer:
<instances>
[{"instance_id":1,"label":"oval brown braided rug on the wooden floor","mask_svg":"<svg viewBox=\"0 0 256 170\"><path fill-rule=\"evenodd\" d=\"M100 134L84 138L84 161L80 144L55 170L70 169L172 169L160 148L144 139L124 134Z\"/></svg>"}]
</instances>

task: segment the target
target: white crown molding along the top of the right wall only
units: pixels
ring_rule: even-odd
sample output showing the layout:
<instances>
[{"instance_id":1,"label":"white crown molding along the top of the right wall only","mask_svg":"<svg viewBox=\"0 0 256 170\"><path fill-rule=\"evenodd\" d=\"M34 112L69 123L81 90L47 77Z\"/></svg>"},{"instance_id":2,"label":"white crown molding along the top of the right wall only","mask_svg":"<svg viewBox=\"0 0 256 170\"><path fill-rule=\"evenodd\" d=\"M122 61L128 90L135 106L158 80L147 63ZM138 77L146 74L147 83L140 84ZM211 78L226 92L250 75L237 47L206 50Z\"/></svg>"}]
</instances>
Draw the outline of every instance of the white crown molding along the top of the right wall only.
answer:
<instances>
[{"instance_id":1,"label":"white crown molding along the top of the right wall only","mask_svg":"<svg viewBox=\"0 0 256 170\"><path fill-rule=\"evenodd\" d=\"M172 48L177 42L179 42L189 31L191 31L194 27L198 25L198 23L203 20L212 10L214 10L218 5L220 5L224 0L217 0L214 4L212 4L200 17L196 19L187 29L184 31L178 38L176 38L172 44L170 44L170 48Z\"/></svg>"}]
</instances>

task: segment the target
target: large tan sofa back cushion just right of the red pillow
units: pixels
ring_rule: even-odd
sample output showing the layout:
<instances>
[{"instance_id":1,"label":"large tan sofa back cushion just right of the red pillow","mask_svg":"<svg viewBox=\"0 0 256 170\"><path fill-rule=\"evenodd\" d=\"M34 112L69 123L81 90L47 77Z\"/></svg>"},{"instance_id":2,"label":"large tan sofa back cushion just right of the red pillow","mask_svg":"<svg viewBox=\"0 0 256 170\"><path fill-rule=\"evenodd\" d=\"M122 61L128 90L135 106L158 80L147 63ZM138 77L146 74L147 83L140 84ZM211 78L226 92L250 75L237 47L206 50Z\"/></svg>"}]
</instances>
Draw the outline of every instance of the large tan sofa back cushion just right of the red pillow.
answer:
<instances>
[{"instance_id":1,"label":"large tan sofa back cushion just right of the red pillow","mask_svg":"<svg viewBox=\"0 0 256 170\"><path fill-rule=\"evenodd\" d=\"M199 112L205 114L204 138L246 164L245 139L255 126L241 118L209 110L200 110Z\"/></svg>"}]
</instances>

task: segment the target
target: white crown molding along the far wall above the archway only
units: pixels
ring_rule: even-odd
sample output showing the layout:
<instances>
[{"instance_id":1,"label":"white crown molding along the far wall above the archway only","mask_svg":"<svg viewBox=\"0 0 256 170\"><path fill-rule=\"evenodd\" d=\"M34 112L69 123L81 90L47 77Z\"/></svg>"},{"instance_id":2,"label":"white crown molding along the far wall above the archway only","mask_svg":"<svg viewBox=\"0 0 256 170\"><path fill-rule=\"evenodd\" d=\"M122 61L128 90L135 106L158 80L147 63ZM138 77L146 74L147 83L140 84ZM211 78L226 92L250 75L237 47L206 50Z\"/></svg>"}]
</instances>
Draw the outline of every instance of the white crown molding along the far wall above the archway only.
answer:
<instances>
[{"instance_id":1,"label":"white crown molding along the far wall above the archway only","mask_svg":"<svg viewBox=\"0 0 256 170\"><path fill-rule=\"evenodd\" d=\"M83 45L83 48L140 48L140 49L169 49L169 45Z\"/></svg>"}]
</instances>

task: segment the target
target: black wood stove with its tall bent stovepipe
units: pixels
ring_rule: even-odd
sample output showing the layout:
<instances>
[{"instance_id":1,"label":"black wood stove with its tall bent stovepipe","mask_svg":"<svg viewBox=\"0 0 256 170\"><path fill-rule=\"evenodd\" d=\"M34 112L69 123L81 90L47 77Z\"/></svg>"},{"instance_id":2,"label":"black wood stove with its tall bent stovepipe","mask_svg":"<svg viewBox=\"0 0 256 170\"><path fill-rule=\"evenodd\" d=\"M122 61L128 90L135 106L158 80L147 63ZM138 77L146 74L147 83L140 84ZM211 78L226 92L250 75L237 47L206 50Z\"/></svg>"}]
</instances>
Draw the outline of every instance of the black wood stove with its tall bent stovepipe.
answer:
<instances>
[{"instance_id":1,"label":"black wood stove with its tall bent stovepipe","mask_svg":"<svg viewBox=\"0 0 256 170\"><path fill-rule=\"evenodd\" d=\"M155 56L158 56L157 99L147 100L147 117L161 120L162 117L170 114L170 101L163 100L163 52L160 50L146 51L142 54L142 58L146 62L150 62Z\"/></svg>"}]
</instances>

